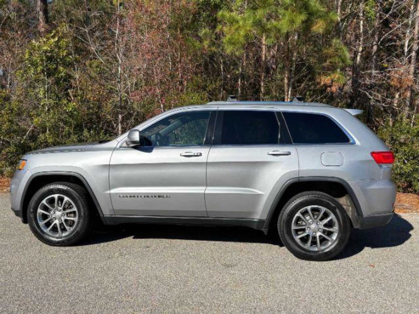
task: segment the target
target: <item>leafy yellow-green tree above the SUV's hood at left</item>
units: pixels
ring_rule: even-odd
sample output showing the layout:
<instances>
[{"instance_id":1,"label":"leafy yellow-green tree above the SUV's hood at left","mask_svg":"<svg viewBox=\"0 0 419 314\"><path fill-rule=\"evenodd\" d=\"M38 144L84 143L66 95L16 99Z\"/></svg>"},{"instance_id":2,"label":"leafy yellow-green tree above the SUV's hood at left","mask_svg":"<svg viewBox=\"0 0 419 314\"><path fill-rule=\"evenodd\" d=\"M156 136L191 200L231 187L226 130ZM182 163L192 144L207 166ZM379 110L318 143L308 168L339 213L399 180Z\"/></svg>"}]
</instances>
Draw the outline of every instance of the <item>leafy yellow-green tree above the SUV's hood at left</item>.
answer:
<instances>
[{"instance_id":1,"label":"leafy yellow-green tree above the SUV's hood at left","mask_svg":"<svg viewBox=\"0 0 419 314\"><path fill-rule=\"evenodd\" d=\"M66 122L75 113L69 97L74 61L65 26L32 42L23 56L22 69L17 72L21 86L16 101L30 108L28 134L36 131L42 144L71 137L71 124Z\"/></svg>"}]
</instances>

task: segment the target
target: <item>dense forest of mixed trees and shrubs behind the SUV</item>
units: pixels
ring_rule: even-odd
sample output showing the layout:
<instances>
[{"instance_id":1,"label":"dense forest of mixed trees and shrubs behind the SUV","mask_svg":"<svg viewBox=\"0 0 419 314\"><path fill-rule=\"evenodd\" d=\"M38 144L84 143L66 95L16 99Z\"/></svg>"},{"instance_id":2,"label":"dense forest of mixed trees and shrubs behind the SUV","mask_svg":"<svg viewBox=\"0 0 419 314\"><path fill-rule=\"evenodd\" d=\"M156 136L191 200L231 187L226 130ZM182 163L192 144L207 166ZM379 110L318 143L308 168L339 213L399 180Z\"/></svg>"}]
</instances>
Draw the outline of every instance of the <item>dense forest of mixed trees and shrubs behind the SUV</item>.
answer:
<instances>
[{"instance_id":1,"label":"dense forest of mixed trees and shrubs behind the SUV","mask_svg":"<svg viewBox=\"0 0 419 314\"><path fill-rule=\"evenodd\" d=\"M364 110L419 193L417 0L0 0L0 175L238 95Z\"/></svg>"}]
</instances>

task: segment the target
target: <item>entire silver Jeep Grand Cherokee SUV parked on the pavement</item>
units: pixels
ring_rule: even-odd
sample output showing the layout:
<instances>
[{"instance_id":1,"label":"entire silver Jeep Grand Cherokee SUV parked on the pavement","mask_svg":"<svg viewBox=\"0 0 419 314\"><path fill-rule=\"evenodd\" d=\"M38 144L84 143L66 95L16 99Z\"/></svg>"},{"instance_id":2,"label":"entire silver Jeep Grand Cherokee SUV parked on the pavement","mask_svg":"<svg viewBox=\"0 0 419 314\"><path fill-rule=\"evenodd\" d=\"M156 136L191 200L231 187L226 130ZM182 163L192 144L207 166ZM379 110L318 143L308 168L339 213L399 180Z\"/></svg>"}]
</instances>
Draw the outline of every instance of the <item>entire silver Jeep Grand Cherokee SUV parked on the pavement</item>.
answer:
<instances>
[{"instance_id":1,"label":"entire silver Jeep Grand Cherokee SUV parked on the pavement","mask_svg":"<svg viewBox=\"0 0 419 314\"><path fill-rule=\"evenodd\" d=\"M49 245L79 242L97 217L247 226L327 260L352 227L393 215L393 154L357 113L301 102L176 108L110 142L24 155L12 210Z\"/></svg>"}]
</instances>

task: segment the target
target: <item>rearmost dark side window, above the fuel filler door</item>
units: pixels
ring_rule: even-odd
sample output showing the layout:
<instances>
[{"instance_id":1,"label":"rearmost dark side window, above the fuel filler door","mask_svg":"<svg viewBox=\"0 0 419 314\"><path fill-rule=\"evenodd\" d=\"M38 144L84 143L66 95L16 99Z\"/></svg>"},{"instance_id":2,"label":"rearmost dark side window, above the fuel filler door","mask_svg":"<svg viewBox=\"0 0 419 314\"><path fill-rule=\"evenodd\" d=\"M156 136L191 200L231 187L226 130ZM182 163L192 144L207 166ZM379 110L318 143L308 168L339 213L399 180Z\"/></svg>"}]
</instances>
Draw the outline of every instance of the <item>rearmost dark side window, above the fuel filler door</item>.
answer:
<instances>
[{"instance_id":1,"label":"rearmost dark side window, above the fuel filler door","mask_svg":"<svg viewBox=\"0 0 419 314\"><path fill-rule=\"evenodd\" d=\"M349 137L328 116L282 112L295 144L349 143Z\"/></svg>"}]
</instances>

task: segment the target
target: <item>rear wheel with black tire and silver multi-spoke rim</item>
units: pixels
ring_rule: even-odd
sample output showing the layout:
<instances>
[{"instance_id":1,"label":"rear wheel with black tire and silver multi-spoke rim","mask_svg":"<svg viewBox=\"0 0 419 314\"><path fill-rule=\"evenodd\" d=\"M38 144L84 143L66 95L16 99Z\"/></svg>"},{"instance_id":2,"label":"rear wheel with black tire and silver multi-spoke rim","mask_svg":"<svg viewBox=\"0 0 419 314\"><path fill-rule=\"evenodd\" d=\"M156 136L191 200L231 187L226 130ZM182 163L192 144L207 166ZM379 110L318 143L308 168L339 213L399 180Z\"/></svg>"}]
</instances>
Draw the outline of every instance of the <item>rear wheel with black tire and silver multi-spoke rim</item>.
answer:
<instances>
[{"instance_id":1,"label":"rear wheel with black tire and silver multi-spoke rim","mask_svg":"<svg viewBox=\"0 0 419 314\"><path fill-rule=\"evenodd\" d=\"M330 260L342 252L351 233L342 205L316 191L292 197L279 214L277 226L285 247L303 260Z\"/></svg>"}]
</instances>

